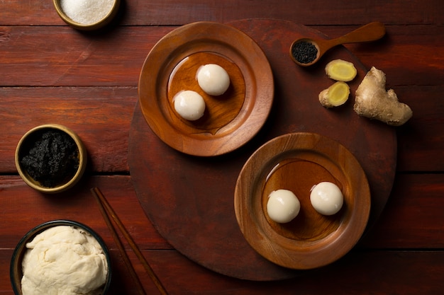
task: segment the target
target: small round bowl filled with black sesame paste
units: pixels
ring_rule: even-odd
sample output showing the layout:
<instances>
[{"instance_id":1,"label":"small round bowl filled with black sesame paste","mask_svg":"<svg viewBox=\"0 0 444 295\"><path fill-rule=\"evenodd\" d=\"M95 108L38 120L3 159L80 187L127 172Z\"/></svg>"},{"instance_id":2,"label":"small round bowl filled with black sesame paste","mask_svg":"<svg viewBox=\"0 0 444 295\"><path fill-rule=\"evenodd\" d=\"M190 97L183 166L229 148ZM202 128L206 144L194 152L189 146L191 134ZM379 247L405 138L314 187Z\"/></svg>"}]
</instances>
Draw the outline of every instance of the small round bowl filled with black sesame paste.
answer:
<instances>
[{"instance_id":1,"label":"small round bowl filled with black sesame paste","mask_svg":"<svg viewBox=\"0 0 444 295\"><path fill-rule=\"evenodd\" d=\"M27 185L51 194L78 183L87 166L87 151L72 129L45 124L23 135L15 160L18 174Z\"/></svg>"}]
</instances>

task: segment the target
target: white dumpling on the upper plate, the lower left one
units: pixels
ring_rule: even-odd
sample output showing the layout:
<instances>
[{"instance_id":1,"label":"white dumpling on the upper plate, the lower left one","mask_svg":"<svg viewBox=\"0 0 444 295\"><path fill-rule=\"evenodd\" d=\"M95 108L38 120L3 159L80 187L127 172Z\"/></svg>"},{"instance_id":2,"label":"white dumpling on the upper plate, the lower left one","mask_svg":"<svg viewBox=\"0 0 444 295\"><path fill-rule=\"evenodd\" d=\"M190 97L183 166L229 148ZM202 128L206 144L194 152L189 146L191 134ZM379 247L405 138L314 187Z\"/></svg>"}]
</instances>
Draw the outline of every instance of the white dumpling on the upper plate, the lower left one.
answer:
<instances>
[{"instance_id":1,"label":"white dumpling on the upper plate, the lower left one","mask_svg":"<svg viewBox=\"0 0 444 295\"><path fill-rule=\"evenodd\" d=\"M205 100L196 91L180 91L174 96L173 102L174 109L185 120L198 120L204 115Z\"/></svg>"}]
</instances>

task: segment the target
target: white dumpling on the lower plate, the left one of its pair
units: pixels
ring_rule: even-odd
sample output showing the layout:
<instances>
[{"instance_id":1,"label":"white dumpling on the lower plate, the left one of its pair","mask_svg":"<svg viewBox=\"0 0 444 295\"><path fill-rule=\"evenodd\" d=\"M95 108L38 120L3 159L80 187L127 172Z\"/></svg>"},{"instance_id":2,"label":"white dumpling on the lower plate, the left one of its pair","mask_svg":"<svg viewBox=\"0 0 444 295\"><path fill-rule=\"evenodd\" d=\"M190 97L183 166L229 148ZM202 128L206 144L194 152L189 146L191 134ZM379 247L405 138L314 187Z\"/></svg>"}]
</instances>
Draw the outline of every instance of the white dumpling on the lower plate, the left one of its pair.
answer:
<instances>
[{"instance_id":1,"label":"white dumpling on the lower plate, the left one of its pair","mask_svg":"<svg viewBox=\"0 0 444 295\"><path fill-rule=\"evenodd\" d=\"M267 214L279 224L292 221L300 209L299 199L290 190L274 190L268 196Z\"/></svg>"}]
</instances>

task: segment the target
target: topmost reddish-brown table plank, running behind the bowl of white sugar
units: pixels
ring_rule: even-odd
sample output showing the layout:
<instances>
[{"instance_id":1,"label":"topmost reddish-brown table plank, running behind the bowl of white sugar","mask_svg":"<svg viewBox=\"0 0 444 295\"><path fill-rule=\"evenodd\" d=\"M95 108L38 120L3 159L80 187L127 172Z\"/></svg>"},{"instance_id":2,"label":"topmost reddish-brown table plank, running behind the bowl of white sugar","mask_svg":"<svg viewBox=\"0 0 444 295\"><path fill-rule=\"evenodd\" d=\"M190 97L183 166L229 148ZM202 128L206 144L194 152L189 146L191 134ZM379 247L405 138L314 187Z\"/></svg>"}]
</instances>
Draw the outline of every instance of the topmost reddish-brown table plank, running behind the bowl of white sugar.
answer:
<instances>
[{"instance_id":1,"label":"topmost reddish-brown table plank, running behind the bowl of white sugar","mask_svg":"<svg viewBox=\"0 0 444 295\"><path fill-rule=\"evenodd\" d=\"M376 18L386 24L443 24L440 0L384 1L122 1L122 25L184 25L194 21L228 22L243 18L278 18L306 25L364 25ZM425 7L427 6L427 7ZM421 9L423 8L423 9ZM0 24L65 25L52 1L10 0L4 3ZM395 17L396 16L396 17Z\"/></svg>"}]
</instances>

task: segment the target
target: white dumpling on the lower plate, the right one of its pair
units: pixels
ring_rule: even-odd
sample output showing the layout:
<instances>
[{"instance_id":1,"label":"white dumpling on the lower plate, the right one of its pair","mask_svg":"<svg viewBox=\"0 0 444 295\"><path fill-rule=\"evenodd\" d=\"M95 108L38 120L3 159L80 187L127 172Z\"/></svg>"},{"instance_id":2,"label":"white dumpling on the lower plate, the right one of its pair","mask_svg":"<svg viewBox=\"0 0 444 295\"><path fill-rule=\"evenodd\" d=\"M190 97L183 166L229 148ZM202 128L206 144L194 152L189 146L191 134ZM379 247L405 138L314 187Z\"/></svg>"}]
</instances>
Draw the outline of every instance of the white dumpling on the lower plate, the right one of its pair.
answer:
<instances>
[{"instance_id":1,"label":"white dumpling on the lower plate, the right one of its pair","mask_svg":"<svg viewBox=\"0 0 444 295\"><path fill-rule=\"evenodd\" d=\"M344 196L338 185L322 182L312 187L310 202L318 213L333 215L343 207Z\"/></svg>"}]
</instances>

